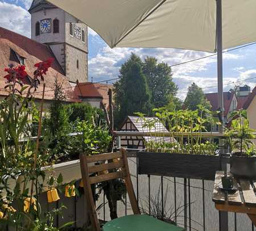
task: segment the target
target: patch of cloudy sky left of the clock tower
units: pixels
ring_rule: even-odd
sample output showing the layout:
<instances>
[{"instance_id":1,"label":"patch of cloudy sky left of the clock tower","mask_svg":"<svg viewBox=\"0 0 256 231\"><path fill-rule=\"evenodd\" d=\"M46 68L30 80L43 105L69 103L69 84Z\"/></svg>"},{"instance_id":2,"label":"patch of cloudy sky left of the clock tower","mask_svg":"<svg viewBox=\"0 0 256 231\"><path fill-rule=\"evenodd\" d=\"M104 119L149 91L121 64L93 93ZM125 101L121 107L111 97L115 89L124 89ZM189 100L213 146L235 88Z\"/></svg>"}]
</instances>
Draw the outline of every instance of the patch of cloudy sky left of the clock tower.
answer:
<instances>
[{"instance_id":1,"label":"patch of cloudy sky left of the clock tower","mask_svg":"<svg viewBox=\"0 0 256 231\"><path fill-rule=\"evenodd\" d=\"M30 37L31 16L27 10L7 2L0 2L0 26Z\"/></svg>"}]
</instances>

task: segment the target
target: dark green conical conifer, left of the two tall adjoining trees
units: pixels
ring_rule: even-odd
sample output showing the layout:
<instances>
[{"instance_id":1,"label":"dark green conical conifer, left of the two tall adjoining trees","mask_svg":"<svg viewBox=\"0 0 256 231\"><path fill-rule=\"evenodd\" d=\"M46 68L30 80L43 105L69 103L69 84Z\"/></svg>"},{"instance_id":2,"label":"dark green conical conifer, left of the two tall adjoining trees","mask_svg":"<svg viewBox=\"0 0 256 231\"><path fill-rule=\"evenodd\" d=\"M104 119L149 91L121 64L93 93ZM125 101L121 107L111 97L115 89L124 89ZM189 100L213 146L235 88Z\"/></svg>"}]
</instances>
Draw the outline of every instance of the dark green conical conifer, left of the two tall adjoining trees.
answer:
<instances>
[{"instance_id":1,"label":"dark green conical conifer, left of the two tall adjoining trees","mask_svg":"<svg viewBox=\"0 0 256 231\"><path fill-rule=\"evenodd\" d=\"M151 112L150 91L142 65L141 58L132 53L119 70L120 79L114 83L115 125L134 112Z\"/></svg>"}]
</instances>

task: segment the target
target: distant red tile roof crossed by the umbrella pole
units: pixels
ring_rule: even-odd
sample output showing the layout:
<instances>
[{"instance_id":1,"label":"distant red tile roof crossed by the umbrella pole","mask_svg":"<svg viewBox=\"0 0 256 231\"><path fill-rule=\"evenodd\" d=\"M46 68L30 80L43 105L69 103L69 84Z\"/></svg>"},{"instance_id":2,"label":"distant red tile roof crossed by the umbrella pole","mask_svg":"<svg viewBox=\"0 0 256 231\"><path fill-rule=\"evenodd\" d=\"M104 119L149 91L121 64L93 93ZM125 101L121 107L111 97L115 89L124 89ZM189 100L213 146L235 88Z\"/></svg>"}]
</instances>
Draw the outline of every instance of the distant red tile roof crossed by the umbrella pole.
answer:
<instances>
[{"instance_id":1,"label":"distant red tile roof crossed by the umbrella pole","mask_svg":"<svg viewBox=\"0 0 256 231\"><path fill-rule=\"evenodd\" d=\"M224 100L224 116L228 115L230 104L232 103L234 93L230 93L230 91L223 93L223 100ZM212 110L218 110L218 93L207 93L205 94L207 100L209 100L210 104L212 105Z\"/></svg>"}]
</instances>

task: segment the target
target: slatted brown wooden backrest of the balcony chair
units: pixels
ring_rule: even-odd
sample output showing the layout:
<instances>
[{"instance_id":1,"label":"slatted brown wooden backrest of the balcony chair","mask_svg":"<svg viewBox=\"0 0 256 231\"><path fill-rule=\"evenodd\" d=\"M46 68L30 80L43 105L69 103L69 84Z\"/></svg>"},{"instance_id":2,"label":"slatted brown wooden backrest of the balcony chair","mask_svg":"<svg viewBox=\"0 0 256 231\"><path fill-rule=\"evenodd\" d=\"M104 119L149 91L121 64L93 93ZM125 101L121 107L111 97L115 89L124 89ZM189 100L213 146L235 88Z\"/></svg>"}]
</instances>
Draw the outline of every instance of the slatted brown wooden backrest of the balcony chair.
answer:
<instances>
[{"instance_id":1,"label":"slatted brown wooden backrest of the balcony chair","mask_svg":"<svg viewBox=\"0 0 256 231\"><path fill-rule=\"evenodd\" d=\"M92 163L98 164L93 165ZM97 219L91 184L123 178L133 213L140 214L133 190L133 183L131 182L127 154L124 149L121 149L120 152L97 154L94 156L80 154L80 166L85 196L90 210L90 221L95 231L100 231L100 223ZM96 173L96 176L92 173Z\"/></svg>"}]
</instances>

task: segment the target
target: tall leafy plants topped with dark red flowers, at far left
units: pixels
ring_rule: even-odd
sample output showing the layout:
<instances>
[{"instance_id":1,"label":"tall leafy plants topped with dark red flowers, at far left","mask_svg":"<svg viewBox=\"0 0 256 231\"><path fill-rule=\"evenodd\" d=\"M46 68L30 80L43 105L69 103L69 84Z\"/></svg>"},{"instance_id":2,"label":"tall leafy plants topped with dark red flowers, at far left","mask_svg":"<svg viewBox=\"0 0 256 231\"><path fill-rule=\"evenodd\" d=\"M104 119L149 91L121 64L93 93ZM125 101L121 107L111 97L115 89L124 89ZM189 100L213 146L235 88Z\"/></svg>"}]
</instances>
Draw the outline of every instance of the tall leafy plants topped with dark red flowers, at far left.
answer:
<instances>
[{"instance_id":1,"label":"tall leafy plants topped with dark red flowers, at far left","mask_svg":"<svg viewBox=\"0 0 256 231\"><path fill-rule=\"evenodd\" d=\"M43 216L40 209L39 194L56 180L45 179L42 167L49 163L46 149L39 150L35 142L24 135L30 135L27 129L32 121L38 120L38 111L32 101L32 93L44 80L52 60L35 64L34 77L27 83L25 66L5 69L9 95L1 100L0 107L0 227L13 226L16 230L59 230L53 226L53 216L62 209L47 212ZM45 148L45 147L44 147ZM10 180L14 185L10 184Z\"/></svg>"}]
</instances>

